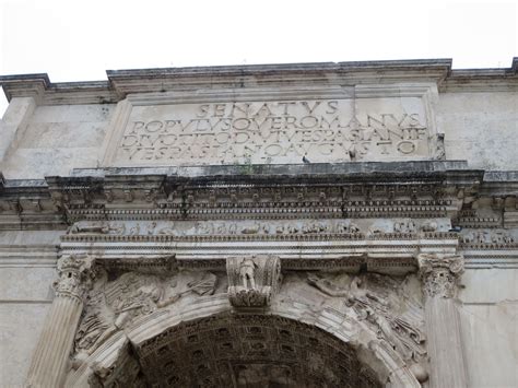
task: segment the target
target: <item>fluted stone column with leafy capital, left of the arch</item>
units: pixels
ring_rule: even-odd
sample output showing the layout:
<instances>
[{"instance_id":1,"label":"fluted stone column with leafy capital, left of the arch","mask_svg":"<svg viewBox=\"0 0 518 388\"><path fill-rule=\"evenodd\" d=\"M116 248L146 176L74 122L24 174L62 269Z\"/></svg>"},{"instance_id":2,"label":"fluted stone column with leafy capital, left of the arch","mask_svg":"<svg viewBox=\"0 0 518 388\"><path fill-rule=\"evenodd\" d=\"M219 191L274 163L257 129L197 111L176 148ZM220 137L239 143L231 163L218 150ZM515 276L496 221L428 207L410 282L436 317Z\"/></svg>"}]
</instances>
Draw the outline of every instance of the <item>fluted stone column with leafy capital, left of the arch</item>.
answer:
<instances>
[{"instance_id":1,"label":"fluted stone column with leafy capital, left of the arch","mask_svg":"<svg viewBox=\"0 0 518 388\"><path fill-rule=\"evenodd\" d=\"M56 296L48 313L28 369L27 387L61 387L69 368L83 297L93 277L94 259L64 256L58 261Z\"/></svg>"}]
</instances>

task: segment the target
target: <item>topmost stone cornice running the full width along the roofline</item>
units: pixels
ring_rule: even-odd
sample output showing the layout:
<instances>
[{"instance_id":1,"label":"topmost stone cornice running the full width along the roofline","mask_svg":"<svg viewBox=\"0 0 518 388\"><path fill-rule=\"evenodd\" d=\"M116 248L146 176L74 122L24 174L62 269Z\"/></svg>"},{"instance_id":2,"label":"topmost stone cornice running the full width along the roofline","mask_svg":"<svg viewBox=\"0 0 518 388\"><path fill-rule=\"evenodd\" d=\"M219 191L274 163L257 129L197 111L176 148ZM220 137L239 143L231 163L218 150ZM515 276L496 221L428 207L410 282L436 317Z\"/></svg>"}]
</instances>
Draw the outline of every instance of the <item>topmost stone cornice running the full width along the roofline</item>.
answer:
<instances>
[{"instance_id":1,"label":"topmost stone cornice running the full width along the roofline","mask_svg":"<svg viewBox=\"0 0 518 388\"><path fill-rule=\"evenodd\" d=\"M343 87L369 84L435 83L442 92L518 89L517 58L507 69L451 70L451 59L384 60L286 64L215 66L107 70L107 81L50 82L48 74L0 77L10 101L34 97L39 104L111 104L127 95L275 87Z\"/></svg>"}]
</instances>

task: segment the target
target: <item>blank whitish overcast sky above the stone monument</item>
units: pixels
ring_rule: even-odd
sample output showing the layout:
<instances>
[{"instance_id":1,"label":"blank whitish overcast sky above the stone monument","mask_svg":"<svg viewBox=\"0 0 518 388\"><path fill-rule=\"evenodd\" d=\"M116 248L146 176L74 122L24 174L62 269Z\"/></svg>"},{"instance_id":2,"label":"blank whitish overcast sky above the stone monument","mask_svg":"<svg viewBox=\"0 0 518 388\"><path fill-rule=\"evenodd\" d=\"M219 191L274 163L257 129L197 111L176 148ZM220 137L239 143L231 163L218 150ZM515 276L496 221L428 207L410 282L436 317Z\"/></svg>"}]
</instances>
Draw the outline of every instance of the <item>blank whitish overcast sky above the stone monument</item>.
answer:
<instances>
[{"instance_id":1,"label":"blank whitish overcast sky above the stone monument","mask_svg":"<svg viewBox=\"0 0 518 388\"><path fill-rule=\"evenodd\" d=\"M0 0L0 73L454 58L509 67L518 1ZM0 111L5 108L3 93Z\"/></svg>"}]
</instances>

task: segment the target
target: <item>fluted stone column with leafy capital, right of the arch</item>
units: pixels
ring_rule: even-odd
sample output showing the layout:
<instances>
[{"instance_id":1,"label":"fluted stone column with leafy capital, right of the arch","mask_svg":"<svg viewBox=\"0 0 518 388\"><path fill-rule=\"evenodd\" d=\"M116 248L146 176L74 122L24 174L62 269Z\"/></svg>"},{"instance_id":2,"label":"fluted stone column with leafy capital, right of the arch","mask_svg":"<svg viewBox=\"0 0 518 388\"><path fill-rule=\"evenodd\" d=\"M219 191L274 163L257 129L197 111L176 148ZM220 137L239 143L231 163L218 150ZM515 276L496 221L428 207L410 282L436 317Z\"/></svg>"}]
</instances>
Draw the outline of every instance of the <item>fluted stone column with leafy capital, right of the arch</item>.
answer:
<instances>
[{"instance_id":1,"label":"fluted stone column with leafy capital, right of the arch","mask_svg":"<svg viewBox=\"0 0 518 388\"><path fill-rule=\"evenodd\" d=\"M429 387L467 387L459 311L454 302L463 257L420 254L417 262L425 296Z\"/></svg>"}]
</instances>

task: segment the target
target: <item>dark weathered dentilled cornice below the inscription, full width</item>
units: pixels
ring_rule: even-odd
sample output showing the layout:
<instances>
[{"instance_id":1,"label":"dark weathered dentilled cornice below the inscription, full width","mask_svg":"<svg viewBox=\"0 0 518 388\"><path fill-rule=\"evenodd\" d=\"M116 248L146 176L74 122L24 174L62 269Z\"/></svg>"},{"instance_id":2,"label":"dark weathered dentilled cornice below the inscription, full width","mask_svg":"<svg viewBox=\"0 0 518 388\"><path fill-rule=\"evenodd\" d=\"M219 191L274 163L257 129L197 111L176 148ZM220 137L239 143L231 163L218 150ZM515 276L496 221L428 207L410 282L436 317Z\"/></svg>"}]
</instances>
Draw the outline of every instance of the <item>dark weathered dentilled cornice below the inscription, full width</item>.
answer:
<instances>
[{"instance_id":1,"label":"dark weathered dentilled cornice below the inscription, full width","mask_svg":"<svg viewBox=\"0 0 518 388\"><path fill-rule=\"evenodd\" d=\"M480 223L470 209L482 197L505 207L511 225L517 174L470 169L463 161L79 169L45 180L1 178L0 228L63 230L79 220L434 216L461 216L457 224L464 225ZM501 223L496 217L492 227Z\"/></svg>"}]
</instances>

